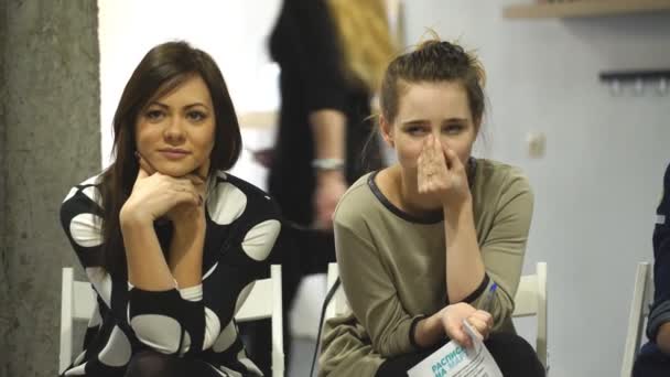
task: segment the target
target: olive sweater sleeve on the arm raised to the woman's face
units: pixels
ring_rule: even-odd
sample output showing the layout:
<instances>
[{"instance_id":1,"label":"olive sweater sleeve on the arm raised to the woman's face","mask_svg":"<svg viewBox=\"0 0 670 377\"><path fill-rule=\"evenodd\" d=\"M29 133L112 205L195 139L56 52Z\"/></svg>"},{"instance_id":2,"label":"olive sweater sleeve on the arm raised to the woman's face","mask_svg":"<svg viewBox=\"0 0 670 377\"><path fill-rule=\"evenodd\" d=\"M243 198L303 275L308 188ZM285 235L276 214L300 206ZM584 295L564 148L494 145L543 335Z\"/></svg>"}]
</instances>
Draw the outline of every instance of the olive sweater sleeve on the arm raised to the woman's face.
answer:
<instances>
[{"instance_id":1,"label":"olive sweater sleeve on the arm raised to the woman's face","mask_svg":"<svg viewBox=\"0 0 670 377\"><path fill-rule=\"evenodd\" d=\"M520 172L510 174L496 203L493 227L479 245L486 277L482 287L468 298L475 308L490 311L494 328L514 312L532 209L533 195L528 180ZM486 292L494 283L498 289L488 304Z\"/></svg>"}]
</instances>

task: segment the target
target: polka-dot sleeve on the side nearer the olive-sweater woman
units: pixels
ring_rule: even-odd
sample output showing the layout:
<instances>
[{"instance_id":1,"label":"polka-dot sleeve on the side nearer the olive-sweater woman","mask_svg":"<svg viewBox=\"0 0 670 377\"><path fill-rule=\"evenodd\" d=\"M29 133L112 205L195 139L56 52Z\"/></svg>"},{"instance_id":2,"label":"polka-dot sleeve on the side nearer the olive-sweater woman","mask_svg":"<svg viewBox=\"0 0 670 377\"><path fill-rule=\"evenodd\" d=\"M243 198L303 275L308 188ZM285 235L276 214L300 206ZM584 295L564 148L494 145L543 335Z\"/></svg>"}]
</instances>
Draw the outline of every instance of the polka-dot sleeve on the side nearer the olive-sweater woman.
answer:
<instances>
[{"instance_id":1,"label":"polka-dot sleeve on the side nearer the olive-sweater woman","mask_svg":"<svg viewBox=\"0 0 670 377\"><path fill-rule=\"evenodd\" d=\"M281 229L277 205L260 190L233 175L217 180L207 207L207 233L210 239L223 237L206 246L216 250L217 265L201 286L166 292L133 290L131 294L129 315L133 328L140 326L142 341L161 352L216 352L227 338L219 337L226 332L224 325L242 306L255 281L269 269ZM231 208L244 209L234 214Z\"/></svg>"}]
</instances>

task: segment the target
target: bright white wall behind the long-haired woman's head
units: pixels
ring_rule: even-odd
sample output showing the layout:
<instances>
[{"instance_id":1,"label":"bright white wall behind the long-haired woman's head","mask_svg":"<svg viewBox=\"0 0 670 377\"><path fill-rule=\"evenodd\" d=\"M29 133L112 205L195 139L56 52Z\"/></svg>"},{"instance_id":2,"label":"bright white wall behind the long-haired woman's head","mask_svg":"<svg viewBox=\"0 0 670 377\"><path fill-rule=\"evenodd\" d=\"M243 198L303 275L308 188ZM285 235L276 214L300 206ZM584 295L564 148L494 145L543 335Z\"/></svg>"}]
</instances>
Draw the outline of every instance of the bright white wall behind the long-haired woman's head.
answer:
<instances>
[{"instance_id":1,"label":"bright white wall behind the long-haired woman's head","mask_svg":"<svg viewBox=\"0 0 670 377\"><path fill-rule=\"evenodd\" d=\"M275 109L278 68L269 62L266 37L280 3L98 0L102 164L110 160L111 120L123 86L144 54L162 42L186 40L209 53L226 78L238 114Z\"/></svg>"}]
</instances>

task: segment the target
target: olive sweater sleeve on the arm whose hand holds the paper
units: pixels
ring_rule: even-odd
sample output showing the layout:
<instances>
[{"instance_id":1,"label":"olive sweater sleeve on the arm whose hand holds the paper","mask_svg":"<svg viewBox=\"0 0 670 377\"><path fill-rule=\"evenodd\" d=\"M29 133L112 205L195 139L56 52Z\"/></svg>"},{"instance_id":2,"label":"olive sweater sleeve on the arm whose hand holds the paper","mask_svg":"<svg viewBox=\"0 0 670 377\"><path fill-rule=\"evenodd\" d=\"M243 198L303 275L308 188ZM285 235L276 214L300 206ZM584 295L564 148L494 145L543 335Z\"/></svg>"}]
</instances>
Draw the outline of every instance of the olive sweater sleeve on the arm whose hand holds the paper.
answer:
<instances>
[{"instance_id":1,"label":"olive sweater sleeve on the arm whose hand holds the paper","mask_svg":"<svg viewBox=\"0 0 670 377\"><path fill-rule=\"evenodd\" d=\"M412 330L423 315L410 316L402 308L372 241L336 220L335 247L342 286L372 347L382 357L415 351Z\"/></svg>"}]
</instances>

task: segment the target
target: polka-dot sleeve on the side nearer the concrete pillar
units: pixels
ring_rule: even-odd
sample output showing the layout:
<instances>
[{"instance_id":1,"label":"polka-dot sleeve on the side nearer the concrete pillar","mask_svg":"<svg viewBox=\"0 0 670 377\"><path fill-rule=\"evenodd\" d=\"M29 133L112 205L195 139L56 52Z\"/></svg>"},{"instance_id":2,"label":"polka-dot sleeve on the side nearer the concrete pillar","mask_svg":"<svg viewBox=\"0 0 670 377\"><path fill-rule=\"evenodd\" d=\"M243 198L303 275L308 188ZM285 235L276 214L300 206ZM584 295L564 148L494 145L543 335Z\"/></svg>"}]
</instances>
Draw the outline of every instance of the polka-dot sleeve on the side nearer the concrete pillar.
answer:
<instances>
[{"instance_id":1,"label":"polka-dot sleeve on the side nearer the concrete pillar","mask_svg":"<svg viewBox=\"0 0 670 377\"><path fill-rule=\"evenodd\" d=\"M111 311L117 323L129 324L138 338L154 349L186 353L202 348L205 315L195 289L150 292L136 289L125 276L105 269L102 208L95 184L73 187L61 206L61 223L101 311ZM193 344L193 347L190 347Z\"/></svg>"}]
</instances>

